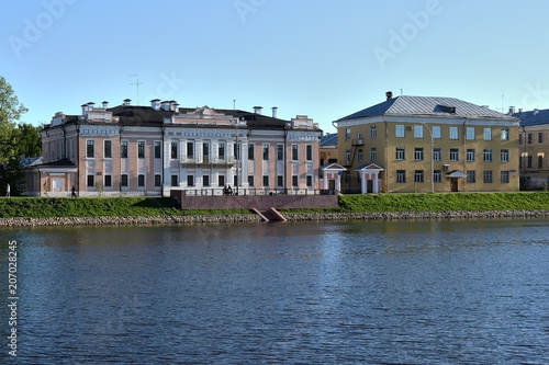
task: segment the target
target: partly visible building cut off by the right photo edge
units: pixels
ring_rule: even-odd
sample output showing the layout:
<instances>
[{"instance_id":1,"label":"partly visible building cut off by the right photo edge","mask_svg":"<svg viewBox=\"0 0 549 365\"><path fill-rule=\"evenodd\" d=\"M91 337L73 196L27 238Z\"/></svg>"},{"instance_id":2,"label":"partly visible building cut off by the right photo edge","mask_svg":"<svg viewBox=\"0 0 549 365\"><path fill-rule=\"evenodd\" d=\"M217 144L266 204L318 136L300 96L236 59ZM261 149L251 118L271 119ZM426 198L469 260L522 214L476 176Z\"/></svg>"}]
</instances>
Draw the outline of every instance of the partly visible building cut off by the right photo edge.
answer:
<instances>
[{"instance_id":1,"label":"partly visible building cut off by the right photo edge","mask_svg":"<svg viewBox=\"0 0 549 365\"><path fill-rule=\"evenodd\" d=\"M518 139L522 187L547 189L549 184L549 110L520 111L513 115L522 121Z\"/></svg>"}]
</instances>

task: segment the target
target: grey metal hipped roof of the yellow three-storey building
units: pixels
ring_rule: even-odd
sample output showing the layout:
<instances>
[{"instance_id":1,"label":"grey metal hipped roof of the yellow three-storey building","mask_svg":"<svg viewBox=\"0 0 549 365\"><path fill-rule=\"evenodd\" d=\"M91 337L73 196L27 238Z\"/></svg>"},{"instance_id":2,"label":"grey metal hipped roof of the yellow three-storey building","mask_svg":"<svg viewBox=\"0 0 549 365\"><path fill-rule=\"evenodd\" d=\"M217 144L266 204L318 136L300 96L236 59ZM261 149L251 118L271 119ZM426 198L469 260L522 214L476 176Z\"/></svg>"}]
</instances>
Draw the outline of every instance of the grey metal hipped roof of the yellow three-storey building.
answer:
<instances>
[{"instance_id":1,"label":"grey metal hipped roof of the yellow three-storey building","mask_svg":"<svg viewBox=\"0 0 549 365\"><path fill-rule=\"evenodd\" d=\"M502 114L486 106L475 105L455 98L401 95L345 116L337 122L381 115L447 116L516 121L516 118L511 115Z\"/></svg>"}]
</instances>

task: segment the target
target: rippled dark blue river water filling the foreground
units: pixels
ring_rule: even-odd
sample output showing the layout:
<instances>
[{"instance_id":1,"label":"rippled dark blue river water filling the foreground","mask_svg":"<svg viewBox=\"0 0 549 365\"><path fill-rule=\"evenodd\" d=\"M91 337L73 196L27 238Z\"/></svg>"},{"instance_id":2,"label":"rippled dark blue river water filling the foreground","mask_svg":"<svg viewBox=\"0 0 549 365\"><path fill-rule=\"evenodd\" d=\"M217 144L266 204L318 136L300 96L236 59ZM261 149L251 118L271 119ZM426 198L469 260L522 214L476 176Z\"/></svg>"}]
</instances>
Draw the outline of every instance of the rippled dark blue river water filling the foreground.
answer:
<instances>
[{"instance_id":1,"label":"rippled dark blue river water filling the foreground","mask_svg":"<svg viewBox=\"0 0 549 365\"><path fill-rule=\"evenodd\" d=\"M19 364L548 364L549 221L0 230Z\"/></svg>"}]
</instances>

